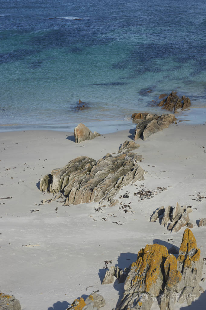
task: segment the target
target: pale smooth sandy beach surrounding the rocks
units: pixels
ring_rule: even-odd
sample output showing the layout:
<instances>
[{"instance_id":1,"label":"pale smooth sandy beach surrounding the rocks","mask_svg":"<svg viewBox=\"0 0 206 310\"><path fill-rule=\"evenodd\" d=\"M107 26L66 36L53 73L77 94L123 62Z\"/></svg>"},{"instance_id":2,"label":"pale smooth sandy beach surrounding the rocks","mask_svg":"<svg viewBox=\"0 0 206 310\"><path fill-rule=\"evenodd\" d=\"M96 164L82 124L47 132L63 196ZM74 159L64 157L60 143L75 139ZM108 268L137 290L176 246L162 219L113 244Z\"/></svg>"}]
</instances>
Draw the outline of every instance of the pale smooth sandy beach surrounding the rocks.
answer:
<instances>
[{"instance_id":1,"label":"pale smooth sandy beach surrounding the rocks","mask_svg":"<svg viewBox=\"0 0 206 310\"><path fill-rule=\"evenodd\" d=\"M39 181L75 157L98 160L107 153L117 153L125 140L131 140L134 129L103 134L80 144L74 143L72 132L1 133L0 198L12 198L0 200L0 290L15 295L23 310L65 310L74 299L98 291L106 301L103 309L111 310L121 299L124 284L114 281L101 285L104 262L128 267L146 244L179 248L185 228L170 233L158 221L149 221L158 207L176 202L192 206L192 232L201 256L206 257L206 228L197 225L206 217L205 130L204 124L171 124L144 141L136 141L140 147L133 152L142 155L140 166L147 173L145 180L124 187L116 195L115 199L130 206L127 213L120 204L98 211L99 203L95 202L63 206L58 199L42 205L41 200L52 194L40 192ZM141 189L153 195L141 200L134 195ZM127 198L120 198L126 193ZM205 290L206 282L200 286ZM176 303L175 309L204 309L205 300L202 293L190 307ZM158 309L156 302L152 309Z\"/></svg>"}]
</instances>

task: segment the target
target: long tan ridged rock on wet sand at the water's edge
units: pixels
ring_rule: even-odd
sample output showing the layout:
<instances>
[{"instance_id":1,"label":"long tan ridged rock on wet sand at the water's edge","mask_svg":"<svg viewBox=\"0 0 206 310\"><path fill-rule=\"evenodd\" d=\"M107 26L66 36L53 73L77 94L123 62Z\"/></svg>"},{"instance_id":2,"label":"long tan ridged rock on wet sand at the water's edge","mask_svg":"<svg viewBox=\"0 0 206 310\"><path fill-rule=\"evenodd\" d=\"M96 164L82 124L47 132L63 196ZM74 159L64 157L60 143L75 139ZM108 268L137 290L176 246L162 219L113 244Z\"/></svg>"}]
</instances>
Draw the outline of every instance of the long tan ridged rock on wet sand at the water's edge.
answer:
<instances>
[{"instance_id":1,"label":"long tan ridged rock on wet sand at the water's edge","mask_svg":"<svg viewBox=\"0 0 206 310\"><path fill-rule=\"evenodd\" d=\"M134 139L137 140L143 134L143 140L147 139L150 135L164 128L169 127L171 123L176 120L174 114L147 114L143 120L137 123L134 133Z\"/></svg>"}]
</instances>

